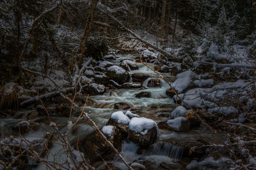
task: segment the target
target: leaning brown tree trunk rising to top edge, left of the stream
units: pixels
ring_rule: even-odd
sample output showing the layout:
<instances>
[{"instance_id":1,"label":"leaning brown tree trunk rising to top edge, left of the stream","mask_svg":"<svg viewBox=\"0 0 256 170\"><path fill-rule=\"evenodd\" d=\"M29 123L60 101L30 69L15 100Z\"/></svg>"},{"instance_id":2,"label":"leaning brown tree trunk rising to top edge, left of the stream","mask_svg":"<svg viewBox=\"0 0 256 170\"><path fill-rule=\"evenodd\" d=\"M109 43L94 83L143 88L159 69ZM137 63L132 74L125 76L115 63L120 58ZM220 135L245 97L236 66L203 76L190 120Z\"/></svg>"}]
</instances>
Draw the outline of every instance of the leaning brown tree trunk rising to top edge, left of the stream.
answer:
<instances>
[{"instance_id":1,"label":"leaning brown tree trunk rising to top edge, left of the stream","mask_svg":"<svg viewBox=\"0 0 256 170\"><path fill-rule=\"evenodd\" d=\"M79 59L78 59L79 64L81 64L83 60L83 55L86 50L86 41L88 39L90 32L92 31L93 17L94 17L97 3L98 3L98 0L92 0L91 2L90 12L86 21L86 25L84 27L83 38L81 39L80 46L79 46L79 53L80 53Z\"/></svg>"}]
</instances>

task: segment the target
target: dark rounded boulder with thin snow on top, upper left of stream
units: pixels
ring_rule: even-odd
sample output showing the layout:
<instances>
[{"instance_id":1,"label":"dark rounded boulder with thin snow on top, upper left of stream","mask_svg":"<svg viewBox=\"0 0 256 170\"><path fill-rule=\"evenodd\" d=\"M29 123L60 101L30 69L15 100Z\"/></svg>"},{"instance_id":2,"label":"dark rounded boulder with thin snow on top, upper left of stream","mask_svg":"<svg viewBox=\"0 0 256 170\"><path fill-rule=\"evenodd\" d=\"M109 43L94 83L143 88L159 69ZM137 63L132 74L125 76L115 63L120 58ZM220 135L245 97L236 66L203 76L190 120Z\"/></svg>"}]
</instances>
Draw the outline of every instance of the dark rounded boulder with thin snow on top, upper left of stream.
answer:
<instances>
[{"instance_id":1,"label":"dark rounded boulder with thin snow on top, upper left of stream","mask_svg":"<svg viewBox=\"0 0 256 170\"><path fill-rule=\"evenodd\" d=\"M118 66L108 67L107 75L109 80L112 79L120 84L123 84L129 81L129 74L125 71L125 69L122 69L121 67L118 67Z\"/></svg>"}]
</instances>

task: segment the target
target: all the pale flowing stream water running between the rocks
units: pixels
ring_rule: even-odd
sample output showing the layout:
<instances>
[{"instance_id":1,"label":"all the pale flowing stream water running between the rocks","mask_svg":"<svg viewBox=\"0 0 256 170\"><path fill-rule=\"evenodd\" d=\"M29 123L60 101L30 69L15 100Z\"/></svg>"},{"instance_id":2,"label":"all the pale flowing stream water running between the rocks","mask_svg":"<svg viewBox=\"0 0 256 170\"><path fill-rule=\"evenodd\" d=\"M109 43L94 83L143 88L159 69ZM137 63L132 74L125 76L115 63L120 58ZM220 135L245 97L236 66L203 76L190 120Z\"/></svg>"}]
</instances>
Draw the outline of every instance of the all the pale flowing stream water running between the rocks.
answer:
<instances>
[{"instance_id":1,"label":"all the pale flowing stream water running between the rocks","mask_svg":"<svg viewBox=\"0 0 256 170\"><path fill-rule=\"evenodd\" d=\"M120 65L120 61L124 59L129 60L135 60L135 55L117 55L116 60L110 60L115 64L116 66ZM159 76L148 69L148 67L144 66L141 63L138 63L139 69L134 71L129 71L129 74L133 73L143 73L150 76L150 78L159 78ZM153 67L153 64L148 63L149 67ZM170 80L171 75L168 73L162 74L164 78L167 80ZM144 81L143 86L144 89L138 88L138 89L117 89L117 90L109 90L103 95L97 95L97 96L90 96L90 105L86 106L86 112L90 112L90 117L95 121L95 123L99 126L99 128L102 128L106 122L108 122L109 118L111 117L111 114L117 110L114 109L115 103L128 103L132 106L132 108L135 108L132 111L132 113L137 113L138 115L141 115L141 117L147 117L155 120L156 122L166 120L168 118L164 117L158 117L160 113L171 113L173 108L175 108L175 103L173 103L173 99L166 96L165 92L166 89L169 89L168 83L161 80L161 87L147 87L148 80ZM132 80L131 80L132 81ZM138 94L139 92L150 92L151 97L150 98L136 98L134 97L135 94ZM85 99L86 96L81 96L80 98ZM82 104L81 104L82 107ZM31 110L29 110L31 111ZM25 114L26 111L23 111L20 114ZM75 122L77 118L79 117L79 114L73 115L71 120L72 122ZM13 118L5 118L2 119L1 125L1 131L3 131L4 126L8 126L10 124L14 124L15 122L19 122L19 119L13 119ZM57 125L59 124L67 124L68 118L64 117L56 117L52 118L52 121L56 122ZM5 123L4 123L5 122ZM70 142L77 141L77 136L86 136L86 134L90 134L93 131L93 128L91 125L87 124L86 122L79 122L76 126L77 129L79 129L79 132L71 133L70 134ZM8 136L8 127L4 128L7 129L6 132L1 132L1 135L4 134L4 136ZM37 138L39 136L44 136L45 131L42 131L42 129L37 129L36 132L29 132L26 136L29 138ZM63 127L61 129L62 132L67 131L67 127ZM194 132L194 134L200 134L201 132ZM2 137L1 137L2 138ZM163 139L173 139L173 138L188 138L187 134L178 134L177 132L170 132L170 131L160 131L159 138L161 140ZM193 136L190 135L189 138L193 138ZM209 137L211 138L211 137ZM58 152L60 150L60 146L54 145L52 147L52 152ZM182 153L184 152L183 148L180 146L174 146L170 143L166 143L164 141L159 141L155 143L154 145L150 146L150 148L147 148L147 150L143 149L140 153L138 153L138 150L140 148L130 141L123 141L122 143L122 152L124 159L128 163L132 162L143 162L143 161L149 161L153 162L154 164L161 164L164 162L164 164L175 164L176 159L182 158ZM58 155L58 161L63 162L63 158L65 155ZM49 157L51 160L52 158ZM120 167L120 169L125 169L126 167L124 164L118 160L118 158L114 159L112 161L113 166ZM104 166L102 165L102 168L104 169ZM45 166L39 166L36 167L36 169L45 169ZM100 167L99 167L100 169Z\"/></svg>"}]
</instances>

